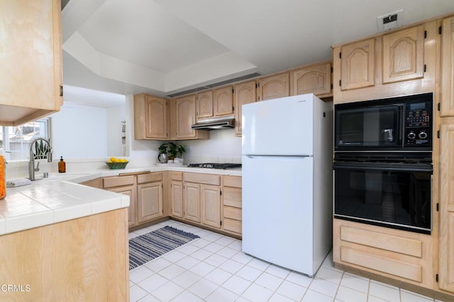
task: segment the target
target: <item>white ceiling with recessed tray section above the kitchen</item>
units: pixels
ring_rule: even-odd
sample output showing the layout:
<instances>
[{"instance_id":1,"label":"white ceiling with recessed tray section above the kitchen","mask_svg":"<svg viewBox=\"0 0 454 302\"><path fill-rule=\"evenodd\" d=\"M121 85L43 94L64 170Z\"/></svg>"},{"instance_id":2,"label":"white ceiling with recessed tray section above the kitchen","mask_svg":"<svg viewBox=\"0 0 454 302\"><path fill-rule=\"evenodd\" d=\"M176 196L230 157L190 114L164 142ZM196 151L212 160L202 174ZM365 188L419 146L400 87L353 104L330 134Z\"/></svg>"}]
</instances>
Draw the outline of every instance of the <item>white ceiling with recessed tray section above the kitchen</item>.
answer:
<instances>
[{"instance_id":1,"label":"white ceiling with recessed tray section above the kitchen","mask_svg":"<svg viewBox=\"0 0 454 302\"><path fill-rule=\"evenodd\" d=\"M65 85L170 95L331 59L331 45L408 25L452 0L71 0L62 10Z\"/></svg>"}]
</instances>

